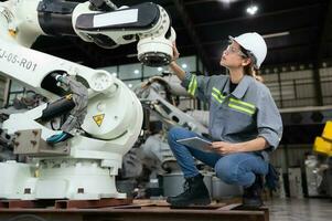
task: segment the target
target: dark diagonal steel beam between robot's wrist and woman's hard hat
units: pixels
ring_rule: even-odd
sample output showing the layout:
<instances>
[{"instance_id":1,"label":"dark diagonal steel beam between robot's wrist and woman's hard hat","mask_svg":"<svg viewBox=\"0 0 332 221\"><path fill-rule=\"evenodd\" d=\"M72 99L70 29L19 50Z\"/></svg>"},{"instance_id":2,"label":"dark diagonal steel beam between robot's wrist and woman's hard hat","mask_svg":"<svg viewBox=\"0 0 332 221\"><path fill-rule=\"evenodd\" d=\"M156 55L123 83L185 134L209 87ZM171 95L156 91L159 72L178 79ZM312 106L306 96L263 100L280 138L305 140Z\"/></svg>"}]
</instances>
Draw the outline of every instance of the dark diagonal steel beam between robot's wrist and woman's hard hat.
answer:
<instances>
[{"instance_id":1,"label":"dark diagonal steel beam between robot's wrist and woman's hard hat","mask_svg":"<svg viewBox=\"0 0 332 221\"><path fill-rule=\"evenodd\" d=\"M211 62L204 51L204 48L202 45L201 40L199 39L199 35L194 29L194 24L185 11L184 1L183 0L173 0L173 3L179 12L179 15L180 15L182 22L185 25L185 30L186 30L189 36L191 38L191 40L193 41L193 43L197 50L199 56L202 59L202 62L205 65L205 69L208 72L211 72L212 71Z\"/></svg>"}]
</instances>

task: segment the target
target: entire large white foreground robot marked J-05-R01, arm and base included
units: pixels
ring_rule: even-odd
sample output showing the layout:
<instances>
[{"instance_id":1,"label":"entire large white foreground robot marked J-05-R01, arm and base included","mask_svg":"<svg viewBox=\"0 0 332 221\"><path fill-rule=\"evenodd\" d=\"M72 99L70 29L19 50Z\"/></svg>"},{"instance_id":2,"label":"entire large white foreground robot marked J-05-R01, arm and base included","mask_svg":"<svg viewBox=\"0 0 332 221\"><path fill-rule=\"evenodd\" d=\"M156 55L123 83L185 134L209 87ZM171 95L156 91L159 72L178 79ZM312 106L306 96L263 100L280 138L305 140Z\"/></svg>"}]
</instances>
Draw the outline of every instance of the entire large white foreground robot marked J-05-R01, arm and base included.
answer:
<instances>
[{"instance_id":1,"label":"entire large white foreground robot marked J-05-R01, arm and base included","mask_svg":"<svg viewBox=\"0 0 332 221\"><path fill-rule=\"evenodd\" d=\"M11 114L2 129L28 164L0 164L0 198L125 198L115 186L122 156L140 134L136 95L106 71L29 49L39 35L76 35L111 49L138 41L146 65L171 61L174 31L154 3L117 8L109 0L8 0L0 3L0 72L49 102ZM50 119L64 120L55 129Z\"/></svg>"}]
</instances>

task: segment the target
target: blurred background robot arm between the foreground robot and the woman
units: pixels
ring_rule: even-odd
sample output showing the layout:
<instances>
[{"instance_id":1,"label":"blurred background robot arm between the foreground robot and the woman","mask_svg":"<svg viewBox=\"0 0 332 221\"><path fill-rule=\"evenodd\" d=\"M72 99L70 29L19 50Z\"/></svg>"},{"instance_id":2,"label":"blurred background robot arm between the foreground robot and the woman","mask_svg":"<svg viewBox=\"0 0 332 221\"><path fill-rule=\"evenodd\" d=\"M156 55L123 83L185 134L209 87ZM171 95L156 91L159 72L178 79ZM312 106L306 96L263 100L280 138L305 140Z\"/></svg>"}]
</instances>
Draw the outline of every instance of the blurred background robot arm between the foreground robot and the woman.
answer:
<instances>
[{"instance_id":1,"label":"blurred background robot arm between the foreground robot and the woman","mask_svg":"<svg viewBox=\"0 0 332 221\"><path fill-rule=\"evenodd\" d=\"M179 85L179 87L178 87ZM180 172L175 158L168 145L167 133L172 126L181 126L197 134L207 134L207 127L202 124L202 117L192 117L176 107L174 97L178 95L189 96L180 84L172 84L163 77L150 77L135 88L142 106L150 114L149 120L159 120L162 128L152 133L141 145L142 156L156 161L151 164L157 173Z\"/></svg>"}]
</instances>

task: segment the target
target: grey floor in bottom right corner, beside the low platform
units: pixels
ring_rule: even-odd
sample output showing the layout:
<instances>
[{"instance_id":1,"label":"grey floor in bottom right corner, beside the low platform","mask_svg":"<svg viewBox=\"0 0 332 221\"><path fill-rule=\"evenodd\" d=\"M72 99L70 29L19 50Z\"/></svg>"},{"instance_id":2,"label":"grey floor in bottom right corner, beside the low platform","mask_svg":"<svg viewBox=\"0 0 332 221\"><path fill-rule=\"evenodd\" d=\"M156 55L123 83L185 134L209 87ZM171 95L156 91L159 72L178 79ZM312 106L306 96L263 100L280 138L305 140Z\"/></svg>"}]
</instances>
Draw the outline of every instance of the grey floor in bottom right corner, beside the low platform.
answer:
<instances>
[{"instance_id":1,"label":"grey floor in bottom right corner, beside the low platform","mask_svg":"<svg viewBox=\"0 0 332 221\"><path fill-rule=\"evenodd\" d=\"M270 221L330 221L332 201L329 199L278 199L265 203Z\"/></svg>"}]
</instances>

